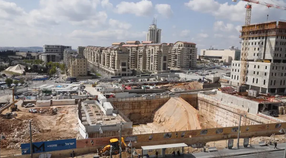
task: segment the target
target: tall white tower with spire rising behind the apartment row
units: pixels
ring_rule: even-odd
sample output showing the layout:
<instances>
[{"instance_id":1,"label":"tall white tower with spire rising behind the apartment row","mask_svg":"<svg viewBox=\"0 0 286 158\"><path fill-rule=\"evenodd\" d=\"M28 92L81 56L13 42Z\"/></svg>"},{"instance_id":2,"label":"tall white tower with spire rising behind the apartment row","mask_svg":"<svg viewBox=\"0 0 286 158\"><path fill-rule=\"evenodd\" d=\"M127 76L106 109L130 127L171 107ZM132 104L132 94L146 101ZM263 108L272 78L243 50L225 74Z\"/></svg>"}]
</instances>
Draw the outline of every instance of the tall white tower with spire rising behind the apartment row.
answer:
<instances>
[{"instance_id":1,"label":"tall white tower with spire rising behind the apartment row","mask_svg":"<svg viewBox=\"0 0 286 158\"><path fill-rule=\"evenodd\" d=\"M161 43L161 29L157 28L155 19L149 26L146 41L154 41L155 43Z\"/></svg>"}]
</instances>

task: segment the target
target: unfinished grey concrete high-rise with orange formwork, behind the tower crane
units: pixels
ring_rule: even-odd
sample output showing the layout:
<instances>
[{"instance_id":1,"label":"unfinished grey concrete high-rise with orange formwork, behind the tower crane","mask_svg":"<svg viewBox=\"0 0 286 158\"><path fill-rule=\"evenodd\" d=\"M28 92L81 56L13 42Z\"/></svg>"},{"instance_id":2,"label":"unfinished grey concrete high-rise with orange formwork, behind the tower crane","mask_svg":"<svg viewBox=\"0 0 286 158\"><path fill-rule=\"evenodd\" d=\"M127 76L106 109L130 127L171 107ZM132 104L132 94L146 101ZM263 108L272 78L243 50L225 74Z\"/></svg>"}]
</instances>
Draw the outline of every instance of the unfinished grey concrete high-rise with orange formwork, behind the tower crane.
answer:
<instances>
[{"instance_id":1,"label":"unfinished grey concrete high-rise with orange formwork, behind the tower crane","mask_svg":"<svg viewBox=\"0 0 286 158\"><path fill-rule=\"evenodd\" d=\"M251 24L245 36L242 26L241 48L247 45L246 86L261 93L286 94L286 22ZM245 42L248 38L248 43ZM232 61L231 84L239 85L241 61Z\"/></svg>"}]
</instances>

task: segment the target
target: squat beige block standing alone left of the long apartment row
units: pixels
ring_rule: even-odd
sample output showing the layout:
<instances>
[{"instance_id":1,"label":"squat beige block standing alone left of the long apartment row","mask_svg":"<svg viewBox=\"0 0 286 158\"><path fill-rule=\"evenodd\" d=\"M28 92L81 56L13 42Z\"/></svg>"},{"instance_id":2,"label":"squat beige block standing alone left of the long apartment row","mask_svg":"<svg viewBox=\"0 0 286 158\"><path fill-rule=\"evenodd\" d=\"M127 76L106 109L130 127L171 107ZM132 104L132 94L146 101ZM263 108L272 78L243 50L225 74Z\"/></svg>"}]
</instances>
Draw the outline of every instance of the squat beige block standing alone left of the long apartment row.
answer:
<instances>
[{"instance_id":1,"label":"squat beige block standing alone left of the long apartment row","mask_svg":"<svg viewBox=\"0 0 286 158\"><path fill-rule=\"evenodd\" d=\"M73 77L87 76L88 75L88 63L87 59L76 58L71 59L71 65L69 66L69 75Z\"/></svg>"}]
</instances>

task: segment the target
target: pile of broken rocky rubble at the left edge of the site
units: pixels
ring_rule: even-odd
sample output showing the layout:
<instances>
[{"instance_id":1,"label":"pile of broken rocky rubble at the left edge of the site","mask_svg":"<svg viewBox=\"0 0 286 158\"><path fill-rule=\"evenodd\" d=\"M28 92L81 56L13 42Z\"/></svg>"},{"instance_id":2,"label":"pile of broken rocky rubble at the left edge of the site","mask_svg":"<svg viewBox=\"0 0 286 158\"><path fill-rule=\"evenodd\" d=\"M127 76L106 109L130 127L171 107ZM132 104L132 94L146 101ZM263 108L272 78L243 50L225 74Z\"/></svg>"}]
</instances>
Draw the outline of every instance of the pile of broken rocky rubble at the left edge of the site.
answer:
<instances>
[{"instance_id":1,"label":"pile of broken rocky rubble at the left edge of the site","mask_svg":"<svg viewBox=\"0 0 286 158\"><path fill-rule=\"evenodd\" d=\"M8 123L9 121L9 123ZM1 133L6 139L1 140L1 148L6 149L19 149L21 143L29 142L30 126L29 120L17 120L12 118L10 120L0 119ZM7 130L5 130L7 129ZM40 133L39 130L33 125L31 126L32 135Z\"/></svg>"}]
</instances>

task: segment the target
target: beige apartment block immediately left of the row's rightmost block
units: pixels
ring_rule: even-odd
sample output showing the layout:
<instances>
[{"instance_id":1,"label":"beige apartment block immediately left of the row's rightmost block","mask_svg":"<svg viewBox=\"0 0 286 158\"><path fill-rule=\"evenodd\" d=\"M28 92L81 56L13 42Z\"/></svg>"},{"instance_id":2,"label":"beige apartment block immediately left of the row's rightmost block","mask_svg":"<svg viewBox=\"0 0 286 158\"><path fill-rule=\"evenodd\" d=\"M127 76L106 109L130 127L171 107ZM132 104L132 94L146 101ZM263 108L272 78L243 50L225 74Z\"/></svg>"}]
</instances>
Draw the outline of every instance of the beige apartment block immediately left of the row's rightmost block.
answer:
<instances>
[{"instance_id":1,"label":"beige apartment block immediately left of the row's rightmost block","mask_svg":"<svg viewBox=\"0 0 286 158\"><path fill-rule=\"evenodd\" d=\"M166 43L147 44L146 70L154 73L168 70L168 50Z\"/></svg>"}]
</instances>

